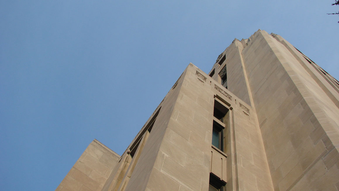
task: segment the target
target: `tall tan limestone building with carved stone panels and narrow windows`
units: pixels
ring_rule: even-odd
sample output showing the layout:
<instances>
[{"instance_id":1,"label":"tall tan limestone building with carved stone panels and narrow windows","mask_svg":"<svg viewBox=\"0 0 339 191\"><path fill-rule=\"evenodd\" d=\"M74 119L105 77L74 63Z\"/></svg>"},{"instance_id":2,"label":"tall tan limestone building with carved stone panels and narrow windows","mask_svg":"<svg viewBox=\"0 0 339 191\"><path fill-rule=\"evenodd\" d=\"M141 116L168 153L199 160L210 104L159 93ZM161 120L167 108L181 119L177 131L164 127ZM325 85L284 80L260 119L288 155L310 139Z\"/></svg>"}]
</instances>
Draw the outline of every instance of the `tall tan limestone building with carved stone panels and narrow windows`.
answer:
<instances>
[{"instance_id":1,"label":"tall tan limestone building with carved stone panels and narrow windows","mask_svg":"<svg viewBox=\"0 0 339 191\"><path fill-rule=\"evenodd\" d=\"M338 190L339 82L281 36L190 63L119 156L94 140L57 190Z\"/></svg>"}]
</instances>

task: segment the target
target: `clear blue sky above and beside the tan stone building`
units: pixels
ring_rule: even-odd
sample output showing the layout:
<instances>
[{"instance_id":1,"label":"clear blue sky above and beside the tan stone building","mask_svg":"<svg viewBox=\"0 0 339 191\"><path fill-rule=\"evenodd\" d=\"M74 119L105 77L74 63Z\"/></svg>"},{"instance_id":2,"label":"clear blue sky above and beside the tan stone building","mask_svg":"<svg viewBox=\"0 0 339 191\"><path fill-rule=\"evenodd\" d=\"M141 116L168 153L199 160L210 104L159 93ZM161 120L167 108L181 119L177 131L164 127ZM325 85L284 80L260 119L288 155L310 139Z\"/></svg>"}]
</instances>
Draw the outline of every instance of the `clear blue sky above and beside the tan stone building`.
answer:
<instances>
[{"instance_id":1,"label":"clear blue sky above and beside the tan stone building","mask_svg":"<svg viewBox=\"0 0 339 191\"><path fill-rule=\"evenodd\" d=\"M1 190L56 189L95 138L122 154L188 63L259 28L338 79L333 2L1 0Z\"/></svg>"}]
</instances>

